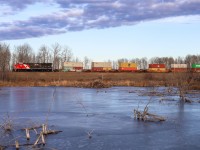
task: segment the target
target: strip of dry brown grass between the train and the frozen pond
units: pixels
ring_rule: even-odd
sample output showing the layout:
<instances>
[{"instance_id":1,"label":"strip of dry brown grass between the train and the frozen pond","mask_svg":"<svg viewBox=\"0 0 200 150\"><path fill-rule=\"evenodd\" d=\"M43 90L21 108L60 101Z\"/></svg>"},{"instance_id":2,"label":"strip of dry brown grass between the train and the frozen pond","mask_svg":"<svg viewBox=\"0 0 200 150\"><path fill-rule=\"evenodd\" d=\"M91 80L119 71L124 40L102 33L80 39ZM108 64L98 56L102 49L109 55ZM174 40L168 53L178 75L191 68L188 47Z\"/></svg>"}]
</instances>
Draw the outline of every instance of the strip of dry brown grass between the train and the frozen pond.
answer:
<instances>
[{"instance_id":1,"label":"strip of dry brown grass between the train and the frozen pond","mask_svg":"<svg viewBox=\"0 0 200 150\"><path fill-rule=\"evenodd\" d=\"M143 87L184 83L200 89L199 76L197 73L10 72L0 86Z\"/></svg>"}]
</instances>

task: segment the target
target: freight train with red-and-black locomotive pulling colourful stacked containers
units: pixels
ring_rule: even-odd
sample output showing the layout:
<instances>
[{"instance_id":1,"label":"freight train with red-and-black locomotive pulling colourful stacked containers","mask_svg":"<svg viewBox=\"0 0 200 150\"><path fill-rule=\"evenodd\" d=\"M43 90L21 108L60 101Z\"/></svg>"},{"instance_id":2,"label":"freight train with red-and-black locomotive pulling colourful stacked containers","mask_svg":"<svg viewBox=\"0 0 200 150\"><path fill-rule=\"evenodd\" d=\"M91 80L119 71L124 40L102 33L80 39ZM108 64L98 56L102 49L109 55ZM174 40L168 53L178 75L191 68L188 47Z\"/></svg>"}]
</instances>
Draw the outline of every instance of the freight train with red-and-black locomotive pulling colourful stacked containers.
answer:
<instances>
[{"instance_id":1,"label":"freight train with red-and-black locomotive pulling colourful stacked containers","mask_svg":"<svg viewBox=\"0 0 200 150\"><path fill-rule=\"evenodd\" d=\"M57 70L57 69L56 69ZM13 66L13 71L38 71L52 72L55 71L52 63L17 63ZM136 63L120 62L118 69L113 69L111 62L92 62L91 69L84 69L83 62L64 62L63 72L200 72L200 64L171 64L169 68L165 64L149 64L148 69L140 69Z\"/></svg>"}]
</instances>

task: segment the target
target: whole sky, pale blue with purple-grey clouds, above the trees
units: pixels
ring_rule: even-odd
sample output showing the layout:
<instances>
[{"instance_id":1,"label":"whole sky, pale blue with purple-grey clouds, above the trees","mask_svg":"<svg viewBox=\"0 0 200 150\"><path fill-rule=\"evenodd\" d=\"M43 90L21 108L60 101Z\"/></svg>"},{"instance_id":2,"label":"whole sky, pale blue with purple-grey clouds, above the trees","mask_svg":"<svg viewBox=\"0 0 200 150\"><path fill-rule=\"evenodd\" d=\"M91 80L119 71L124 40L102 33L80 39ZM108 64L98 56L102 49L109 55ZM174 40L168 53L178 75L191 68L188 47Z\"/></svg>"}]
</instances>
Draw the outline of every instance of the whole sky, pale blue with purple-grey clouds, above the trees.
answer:
<instances>
[{"instance_id":1,"label":"whole sky, pale blue with purple-grey clouds, above the trees","mask_svg":"<svg viewBox=\"0 0 200 150\"><path fill-rule=\"evenodd\" d=\"M96 61L200 54L200 0L0 0L0 41Z\"/></svg>"}]
</instances>

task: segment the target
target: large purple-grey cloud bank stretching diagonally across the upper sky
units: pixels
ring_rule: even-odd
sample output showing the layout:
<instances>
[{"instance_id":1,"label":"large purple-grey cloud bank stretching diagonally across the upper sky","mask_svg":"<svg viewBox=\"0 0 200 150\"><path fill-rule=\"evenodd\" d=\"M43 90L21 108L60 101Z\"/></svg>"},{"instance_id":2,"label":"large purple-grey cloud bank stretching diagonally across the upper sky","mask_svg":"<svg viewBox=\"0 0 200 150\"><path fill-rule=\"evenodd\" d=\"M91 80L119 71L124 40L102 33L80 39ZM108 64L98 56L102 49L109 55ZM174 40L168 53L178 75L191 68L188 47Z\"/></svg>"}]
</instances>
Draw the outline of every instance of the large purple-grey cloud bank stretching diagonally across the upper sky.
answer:
<instances>
[{"instance_id":1,"label":"large purple-grey cloud bank stretching diagonally across the upper sky","mask_svg":"<svg viewBox=\"0 0 200 150\"><path fill-rule=\"evenodd\" d=\"M20 11L38 2L56 4L60 7L60 11L53 14L31 17L25 21L0 22L0 40L134 25L148 20L200 14L200 0L26 0L23 3L21 0L0 0L0 2Z\"/></svg>"}]
</instances>

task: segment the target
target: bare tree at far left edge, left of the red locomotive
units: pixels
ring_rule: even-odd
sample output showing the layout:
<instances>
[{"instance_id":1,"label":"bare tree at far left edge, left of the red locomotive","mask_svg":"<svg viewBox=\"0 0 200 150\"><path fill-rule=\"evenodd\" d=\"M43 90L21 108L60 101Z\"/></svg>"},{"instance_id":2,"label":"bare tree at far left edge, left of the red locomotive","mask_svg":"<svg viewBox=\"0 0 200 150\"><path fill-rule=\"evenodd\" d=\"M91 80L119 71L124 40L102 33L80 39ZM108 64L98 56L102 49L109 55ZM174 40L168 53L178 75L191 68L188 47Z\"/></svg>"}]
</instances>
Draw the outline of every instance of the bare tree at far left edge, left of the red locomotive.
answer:
<instances>
[{"instance_id":1,"label":"bare tree at far left edge, left of the red locomotive","mask_svg":"<svg viewBox=\"0 0 200 150\"><path fill-rule=\"evenodd\" d=\"M0 73L1 79L5 80L7 78L6 72L10 69L10 59L11 53L9 45L0 43Z\"/></svg>"}]
</instances>

